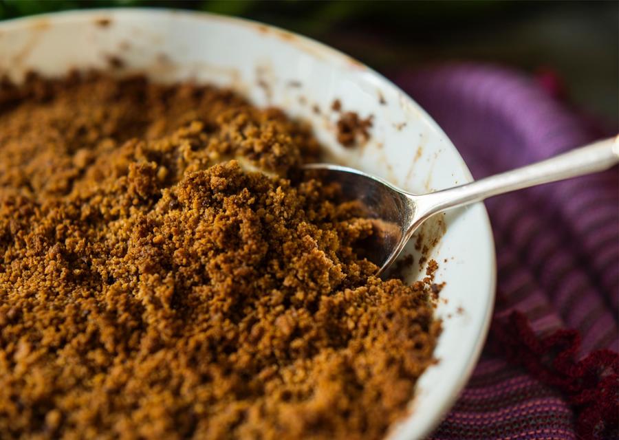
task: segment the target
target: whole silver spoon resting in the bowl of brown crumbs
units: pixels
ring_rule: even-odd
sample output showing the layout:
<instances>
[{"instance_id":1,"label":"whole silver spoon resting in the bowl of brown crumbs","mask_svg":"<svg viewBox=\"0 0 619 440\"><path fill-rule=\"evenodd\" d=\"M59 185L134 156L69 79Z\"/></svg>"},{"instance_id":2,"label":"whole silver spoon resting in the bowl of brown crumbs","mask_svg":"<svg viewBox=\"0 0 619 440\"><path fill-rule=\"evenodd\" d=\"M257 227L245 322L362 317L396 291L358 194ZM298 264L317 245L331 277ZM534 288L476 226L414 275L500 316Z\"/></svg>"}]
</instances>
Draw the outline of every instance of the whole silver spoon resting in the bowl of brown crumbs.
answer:
<instances>
[{"instance_id":1,"label":"whole silver spoon resting in the bowl of brown crumbs","mask_svg":"<svg viewBox=\"0 0 619 440\"><path fill-rule=\"evenodd\" d=\"M341 187L343 200L358 200L374 220L375 241L368 257L381 274L404 248L420 225L434 214L551 181L606 170L619 163L619 136L506 173L424 195L411 194L379 177L333 164L307 164L304 170Z\"/></svg>"}]
</instances>

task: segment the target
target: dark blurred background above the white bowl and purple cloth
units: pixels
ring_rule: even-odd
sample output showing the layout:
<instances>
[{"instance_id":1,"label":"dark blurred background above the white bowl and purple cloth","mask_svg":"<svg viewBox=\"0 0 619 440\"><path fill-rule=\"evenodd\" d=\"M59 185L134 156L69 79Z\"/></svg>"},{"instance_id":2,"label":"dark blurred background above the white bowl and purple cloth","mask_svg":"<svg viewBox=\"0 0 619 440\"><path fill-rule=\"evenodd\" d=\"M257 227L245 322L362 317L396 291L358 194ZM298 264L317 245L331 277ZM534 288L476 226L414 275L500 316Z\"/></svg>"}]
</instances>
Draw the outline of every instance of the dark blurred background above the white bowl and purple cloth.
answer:
<instances>
[{"instance_id":1,"label":"dark blurred background above the white bowl and purple cloth","mask_svg":"<svg viewBox=\"0 0 619 440\"><path fill-rule=\"evenodd\" d=\"M0 19L110 6L236 15L323 41L389 76L445 61L508 65L619 124L619 1L0 0Z\"/></svg>"}]
</instances>

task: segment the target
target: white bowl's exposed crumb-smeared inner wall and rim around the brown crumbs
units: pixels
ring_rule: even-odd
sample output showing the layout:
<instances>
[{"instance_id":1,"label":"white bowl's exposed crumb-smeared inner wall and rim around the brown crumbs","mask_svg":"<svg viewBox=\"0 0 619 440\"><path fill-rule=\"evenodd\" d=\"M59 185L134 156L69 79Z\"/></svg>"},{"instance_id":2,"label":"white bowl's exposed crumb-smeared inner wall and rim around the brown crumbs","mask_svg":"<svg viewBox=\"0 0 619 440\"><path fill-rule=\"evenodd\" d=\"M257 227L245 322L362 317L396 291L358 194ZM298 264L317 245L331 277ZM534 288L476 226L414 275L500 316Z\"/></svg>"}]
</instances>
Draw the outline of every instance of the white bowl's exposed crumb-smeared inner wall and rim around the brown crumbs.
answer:
<instances>
[{"instance_id":1,"label":"white bowl's exposed crumb-smeared inner wall and rim around the brown crumbs","mask_svg":"<svg viewBox=\"0 0 619 440\"><path fill-rule=\"evenodd\" d=\"M154 80L230 86L254 104L283 107L312 123L334 162L388 179L412 192L462 184L471 176L441 129L400 89L357 61L301 36L259 23L166 10L65 12L0 23L0 73L20 80L34 69L126 70ZM335 140L334 99L345 110L373 115L371 140L344 148ZM316 114L317 106L320 114ZM411 413L392 439L428 435L454 403L486 339L495 292L495 250L481 203L443 217L446 232L430 250L446 282L436 314L444 330L429 368L411 396ZM439 229L426 228L426 240ZM414 239L412 240L414 241ZM404 254L419 254L409 243ZM407 274L421 274L417 264Z\"/></svg>"}]
</instances>

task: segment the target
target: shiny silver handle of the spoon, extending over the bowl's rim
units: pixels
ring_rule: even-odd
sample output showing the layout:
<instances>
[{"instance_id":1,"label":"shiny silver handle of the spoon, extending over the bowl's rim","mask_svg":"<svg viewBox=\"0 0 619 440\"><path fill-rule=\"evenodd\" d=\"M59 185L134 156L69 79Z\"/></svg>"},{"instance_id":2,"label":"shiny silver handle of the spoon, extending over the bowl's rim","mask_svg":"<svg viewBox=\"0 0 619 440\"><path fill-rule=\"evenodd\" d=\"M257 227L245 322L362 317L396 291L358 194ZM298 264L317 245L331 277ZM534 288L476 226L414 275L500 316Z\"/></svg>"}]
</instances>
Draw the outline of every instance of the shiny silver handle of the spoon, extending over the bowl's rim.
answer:
<instances>
[{"instance_id":1,"label":"shiny silver handle of the spoon, extending over the bowl's rim","mask_svg":"<svg viewBox=\"0 0 619 440\"><path fill-rule=\"evenodd\" d=\"M413 223L423 221L437 212L481 201L504 192L595 173L618 163L619 135L470 184L426 195L411 196L417 205Z\"/></svg>"}]
</instances>

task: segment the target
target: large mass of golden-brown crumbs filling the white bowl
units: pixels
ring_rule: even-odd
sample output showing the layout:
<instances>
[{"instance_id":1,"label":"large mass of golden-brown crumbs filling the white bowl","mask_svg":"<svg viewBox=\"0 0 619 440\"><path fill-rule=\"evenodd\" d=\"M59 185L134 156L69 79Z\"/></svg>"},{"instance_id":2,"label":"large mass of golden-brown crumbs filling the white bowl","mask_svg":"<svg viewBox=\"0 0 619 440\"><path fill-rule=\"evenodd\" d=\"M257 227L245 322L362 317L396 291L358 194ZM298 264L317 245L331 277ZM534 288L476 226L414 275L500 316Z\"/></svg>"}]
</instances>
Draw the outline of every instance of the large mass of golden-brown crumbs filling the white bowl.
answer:
<instances>
[{"instance_id":1,"label":"large mass of golden-brown crumbs filling the white bowl","mask_svg":"<svg viewBox=\"0 0 619 440\"><path fill-rule=\"evenodd\" d=\"M297 182L310 129L231 91L0 85L3 438L378 439L433 363L431 283ZM252 172L258 169L263 172Z\"/></svg>"}]
</instances>

